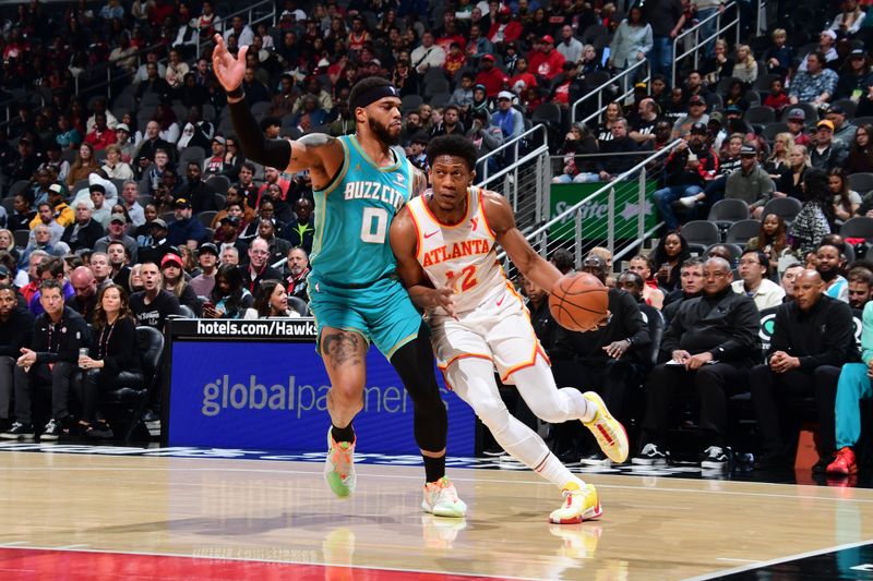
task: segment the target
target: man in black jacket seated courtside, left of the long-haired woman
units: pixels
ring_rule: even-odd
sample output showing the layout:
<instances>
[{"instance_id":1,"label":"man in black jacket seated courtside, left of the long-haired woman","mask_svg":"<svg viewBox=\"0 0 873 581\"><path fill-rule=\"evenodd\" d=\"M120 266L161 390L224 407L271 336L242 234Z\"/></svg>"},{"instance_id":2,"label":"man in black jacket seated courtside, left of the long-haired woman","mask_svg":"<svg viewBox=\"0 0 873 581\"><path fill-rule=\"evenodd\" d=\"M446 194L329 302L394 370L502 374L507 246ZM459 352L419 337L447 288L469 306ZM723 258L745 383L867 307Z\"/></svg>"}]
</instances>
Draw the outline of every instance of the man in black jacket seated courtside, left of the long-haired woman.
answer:
<instances>
[{"instance_id":1,"label":"man in black jacket seated courtside, left of the long-haired woman","mask_svg":"<svg viewBox=\"0 0 873 581\"><path fill-rule=\"evenodd\" d=\"M69 427L70 382L76 372L79 350L88 344L88 328L82 316L64 305L57 280L44 280L39 301L45 312L36 317L29 348L22 348L15 367L15 422L2 434L5 439L33 437L34 390L51 389L51 417L40 440L57 440Z\"/></svg>"}]
</instances>

